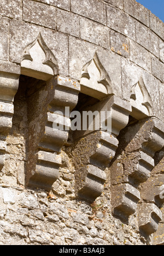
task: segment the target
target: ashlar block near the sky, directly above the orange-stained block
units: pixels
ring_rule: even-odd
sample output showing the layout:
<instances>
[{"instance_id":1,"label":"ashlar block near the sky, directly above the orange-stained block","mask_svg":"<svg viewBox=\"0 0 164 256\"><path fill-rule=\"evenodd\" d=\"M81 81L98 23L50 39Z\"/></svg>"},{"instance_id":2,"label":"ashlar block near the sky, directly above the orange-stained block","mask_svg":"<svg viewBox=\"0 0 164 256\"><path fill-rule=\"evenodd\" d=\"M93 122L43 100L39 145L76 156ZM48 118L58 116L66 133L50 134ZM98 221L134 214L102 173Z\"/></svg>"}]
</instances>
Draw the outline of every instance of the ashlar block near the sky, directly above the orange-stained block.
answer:
<instances>
[{"instance_id":1,"label":"ashlar block near the sky, directly above the orange-stained block","mask_svg":"<svg viewBox=\"0 0 164 256\"><path fill-rule=\"evenodd\" d=\"M133 40L136 39L134 19L121 10L107 6L107 26Z\"/></svg>"}]
</instances>

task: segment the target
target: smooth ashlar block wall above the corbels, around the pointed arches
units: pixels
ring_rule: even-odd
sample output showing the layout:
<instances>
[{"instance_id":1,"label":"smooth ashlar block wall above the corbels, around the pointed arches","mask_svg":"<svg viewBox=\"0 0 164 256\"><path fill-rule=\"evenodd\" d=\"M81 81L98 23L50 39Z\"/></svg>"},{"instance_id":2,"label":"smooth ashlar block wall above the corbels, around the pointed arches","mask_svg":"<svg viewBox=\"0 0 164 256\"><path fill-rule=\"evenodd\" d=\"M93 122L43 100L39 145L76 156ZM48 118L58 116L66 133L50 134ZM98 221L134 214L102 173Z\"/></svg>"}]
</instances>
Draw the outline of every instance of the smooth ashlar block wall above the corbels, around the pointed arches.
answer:
<instances>
[{"instance_id":1,"label":"smooth ashlar block wall above the corbels, around the pointed arches","mask_svg":"<svg viewBox=\"0 0 164 256\"><path fill-rule=\"evenodd\" d=\"M47 54L54 55L50 75L55 67L54 74L80 80L96 52L113 93L130 101L142 79L153 102L151 115L163 120L164 24L143 5L134 0L7 2L0 3L0 71L20 74L26 48L38 37L48 49L40 44L47 63L52 62Z\"/></svg>"}]
</instances>

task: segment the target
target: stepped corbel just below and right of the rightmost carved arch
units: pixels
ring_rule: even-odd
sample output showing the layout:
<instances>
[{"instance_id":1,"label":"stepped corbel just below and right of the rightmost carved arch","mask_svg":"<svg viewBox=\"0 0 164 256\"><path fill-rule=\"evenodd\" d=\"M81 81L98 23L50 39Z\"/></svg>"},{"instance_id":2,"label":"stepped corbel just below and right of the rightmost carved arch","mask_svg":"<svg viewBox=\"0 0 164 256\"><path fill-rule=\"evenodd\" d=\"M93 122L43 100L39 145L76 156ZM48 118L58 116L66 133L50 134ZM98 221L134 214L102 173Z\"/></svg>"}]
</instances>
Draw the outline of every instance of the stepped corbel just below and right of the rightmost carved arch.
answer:
<instances>
[{"instance_id":1,"label":"stepped corbel just below and right of the rightmost carved arch","mask_svg":"<svg viewBox=\"0 0 164 256\"><path fill-rule=\"evenodd\" d=\"M122 150L119 158L115 160L112 166L110 166L111 183L113 184L113 187L126 183L137 190L140 183L148 180L150 172L154 168L154 154L164 146L163 127L163 123L159 119L151 118L149 120L140 121L131 127L127 127L124 134L122 132L122 146L120 145L120 147L123 147L124 150ZM124 144L126 146L124 146ZM111 189L113 191L114 188ZM125 193L124 189L121 191L122 194L126 195L126 190ZM118 212L119 217L122 214L124 218L126 217L126 219L128 219L134 212L126 210L126 201L123 202L124 207L122 207L121 196L118 198L116 206L115 193L112 193L112 197L113 213L115 214ZM133 193L131 194L129 191L128 199L132 201L132 205L134 203L133 198ZM129 204L130 203L128 202L127 208L129 207Z\"/></svg>"}]
</instances>

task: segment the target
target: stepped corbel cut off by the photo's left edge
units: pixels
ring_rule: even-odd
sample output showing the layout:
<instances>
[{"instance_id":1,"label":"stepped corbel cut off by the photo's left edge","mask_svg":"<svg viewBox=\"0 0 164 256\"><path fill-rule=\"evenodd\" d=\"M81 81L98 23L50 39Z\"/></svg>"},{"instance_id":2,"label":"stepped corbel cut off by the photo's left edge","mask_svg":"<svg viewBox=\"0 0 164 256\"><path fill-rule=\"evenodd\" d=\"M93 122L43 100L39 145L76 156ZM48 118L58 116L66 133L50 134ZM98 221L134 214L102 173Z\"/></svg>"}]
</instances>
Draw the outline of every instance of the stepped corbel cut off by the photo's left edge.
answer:
<instances>
[{"instance_id":1,"label":"stepped corbel cut off by the photo's left edge","mask_svg":"<svg viewBox=\"0 0 164 256\"><path fill-rule=\"evenodd\" d=\"M14 96L19 86L19 74L0 74L0 170L4 166L7 153L6 137L8 136L14 114Z\"/></svg>"}]
</instances>

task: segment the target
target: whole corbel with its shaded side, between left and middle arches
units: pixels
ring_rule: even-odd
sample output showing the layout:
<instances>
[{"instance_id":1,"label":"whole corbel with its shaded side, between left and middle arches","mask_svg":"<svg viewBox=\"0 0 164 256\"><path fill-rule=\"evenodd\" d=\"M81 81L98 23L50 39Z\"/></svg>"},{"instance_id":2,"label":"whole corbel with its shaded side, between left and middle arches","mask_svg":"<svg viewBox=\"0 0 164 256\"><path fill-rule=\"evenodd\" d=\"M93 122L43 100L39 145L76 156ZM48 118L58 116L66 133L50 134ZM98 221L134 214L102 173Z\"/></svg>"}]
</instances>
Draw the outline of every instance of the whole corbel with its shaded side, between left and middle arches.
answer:
<instances>
[{"instance_id":1,"label":"whole corbel with its shaded side, between left and middle arches","mask_svg":"<svg viewBox=\"0 0 164 256\"><path fill-rule=\"evenodd\" d=\"M52 184L58 178L58 168L62 164L60 152L68 139L71 126L69 115L78 102L78 93L79 84L76 81L57 76L29 98L30 105L34 104L34 112L28 118L28 127L33 138L32 141L28 140L28 185L51 190ZM34 101L38 103L35 104ZM65 107L69 108L68 113L65 113ZM42 121L38 117L41 108ZM36 118L38 127L35 125Z\"/></svg>"}]
</instances>

